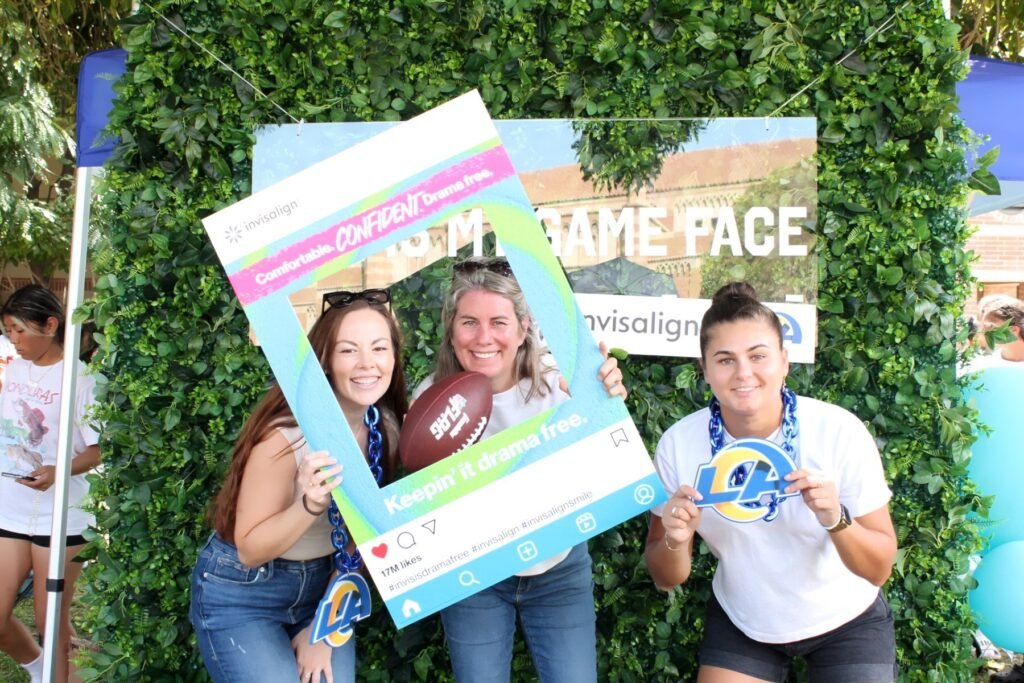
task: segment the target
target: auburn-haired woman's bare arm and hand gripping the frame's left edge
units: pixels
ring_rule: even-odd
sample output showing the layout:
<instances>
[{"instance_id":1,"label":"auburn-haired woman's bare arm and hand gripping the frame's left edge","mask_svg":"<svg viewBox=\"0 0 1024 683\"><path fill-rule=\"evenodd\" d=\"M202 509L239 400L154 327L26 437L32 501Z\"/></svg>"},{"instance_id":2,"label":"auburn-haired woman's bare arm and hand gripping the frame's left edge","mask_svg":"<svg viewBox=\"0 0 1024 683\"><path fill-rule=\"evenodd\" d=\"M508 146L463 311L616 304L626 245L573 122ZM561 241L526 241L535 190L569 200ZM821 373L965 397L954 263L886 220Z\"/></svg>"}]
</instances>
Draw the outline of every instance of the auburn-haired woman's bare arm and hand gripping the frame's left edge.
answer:
<instances>
[{"instance_id":1,"label":"auburn-haired woman's bare arm and hand gripping the frame's left edge","mask_svg":"<svg viewBox=\"0 0 1024 683\"><path fill-rule=\"evenodd\" d=\"M279 430L253 449L242 474L234 517L234 545L243 563L258 566L280 557L306 532L316 519L306 507L325 511L331 488L340 481L336 480L340 465L322 469L334 463L318 452L304 458L297 468L292 446ZM305 505L303 497L295 495L297 476Z\"/></svg>"}]
</instances>

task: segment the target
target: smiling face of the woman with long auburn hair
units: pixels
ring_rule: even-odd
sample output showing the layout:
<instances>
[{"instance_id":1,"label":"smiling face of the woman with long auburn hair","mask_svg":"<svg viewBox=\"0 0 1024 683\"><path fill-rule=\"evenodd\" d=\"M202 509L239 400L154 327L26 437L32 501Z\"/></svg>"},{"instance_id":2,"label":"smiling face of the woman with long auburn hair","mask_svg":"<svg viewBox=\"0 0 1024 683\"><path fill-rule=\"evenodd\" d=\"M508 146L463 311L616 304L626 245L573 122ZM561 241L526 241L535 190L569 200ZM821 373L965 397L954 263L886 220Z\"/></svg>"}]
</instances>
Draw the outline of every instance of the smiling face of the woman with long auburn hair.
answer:
<instances>
[{"instance_id":1,"label":"smiling face of the woman with long auburn hair","mask_svg":"<svg viewBox=\"0 0 1024 683\"><path fill-rule=\"evenodd\" d=\"M394 372L394 357L391 330L380 311L352 310L342 318L330 369L343 411L361 411L384 395Z\"/></svg>"}]
</instances>

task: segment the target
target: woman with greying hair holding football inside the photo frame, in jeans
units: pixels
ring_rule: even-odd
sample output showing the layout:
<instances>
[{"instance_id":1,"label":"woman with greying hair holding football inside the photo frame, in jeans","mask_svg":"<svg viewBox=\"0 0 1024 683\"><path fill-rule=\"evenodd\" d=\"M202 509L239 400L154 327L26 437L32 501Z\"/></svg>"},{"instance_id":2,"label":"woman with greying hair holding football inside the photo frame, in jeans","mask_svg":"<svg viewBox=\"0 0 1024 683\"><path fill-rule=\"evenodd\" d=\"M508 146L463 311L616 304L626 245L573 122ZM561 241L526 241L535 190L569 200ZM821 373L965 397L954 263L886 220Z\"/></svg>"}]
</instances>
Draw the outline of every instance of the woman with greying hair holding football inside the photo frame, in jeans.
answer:
<instances>
[{"instance_id":1,"label":"woman with greying hair holding football inside the photo frame, in jeans","mask_svg":"<svg viewBox=\"0 0 1024 683\"><path fill-rule=\"evenodd\" d=\"M568 400L559 388L558 369L544 357L525 296L506 259L457 262L441 319L436 368L415 395L459 372L486 375L494 404L481 439ZM609 395L626 397L613 357L604 361L598 377ZM597 680L593 579L586 544L441 610L457 681L509 680L517 616L542 683Z\"/></svg>"}]
</instances>

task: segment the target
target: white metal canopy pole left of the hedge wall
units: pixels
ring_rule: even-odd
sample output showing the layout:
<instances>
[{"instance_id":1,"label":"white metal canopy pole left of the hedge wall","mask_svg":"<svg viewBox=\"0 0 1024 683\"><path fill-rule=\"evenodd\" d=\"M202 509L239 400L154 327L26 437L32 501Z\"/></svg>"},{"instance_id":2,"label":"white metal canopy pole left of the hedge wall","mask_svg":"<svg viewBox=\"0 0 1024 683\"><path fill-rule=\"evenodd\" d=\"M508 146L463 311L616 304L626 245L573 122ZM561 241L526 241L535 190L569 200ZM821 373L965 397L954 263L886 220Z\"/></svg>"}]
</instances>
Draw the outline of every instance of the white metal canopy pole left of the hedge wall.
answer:
<instances>
[{"instance_id":1,"label":"white metal canopy pole left of the hedge wall","mask_svg":"<svg viewBox=\"0 0 1024 683\"><path fill-rule=\"evenodd\" d=\"M68 481L75 428L75 396L78 384L78 351L81 326L72 323L75 309L85 294L85 256L89 244L89 203L92 199L92 167L75 171L75 220L71 232L71 264L68 268L68 301L65 309L65 362L60 381L60 423L57 466L53 480L53 527L50 530L50 566L46 574L46 636L43 640L43 680L53 683L56 675L60 629L60 601L63 599L63 564L68 527ZM67 596L68 600L75 596Z\"/></svg>"}]
</instances>

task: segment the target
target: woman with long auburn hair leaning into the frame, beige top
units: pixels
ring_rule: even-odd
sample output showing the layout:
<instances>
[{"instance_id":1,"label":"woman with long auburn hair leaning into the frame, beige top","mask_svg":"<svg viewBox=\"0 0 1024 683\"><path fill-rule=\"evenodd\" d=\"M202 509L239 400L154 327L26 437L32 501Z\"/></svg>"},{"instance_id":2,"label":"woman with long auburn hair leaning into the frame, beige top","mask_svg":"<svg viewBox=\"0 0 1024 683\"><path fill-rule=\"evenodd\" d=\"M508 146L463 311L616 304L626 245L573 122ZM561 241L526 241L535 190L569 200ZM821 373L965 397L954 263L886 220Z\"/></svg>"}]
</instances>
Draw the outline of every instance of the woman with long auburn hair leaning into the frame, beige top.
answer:
<instances>
[{"instance_id":1,"label":"woman with long auburn hair leaning into the frame, beige top","mask_svg":"<svg viewBox=\"0 0 1024 683\"><path fill-rule=\"evenodd\" d=\"M309 343L378 482L394 471L406 382L385 290L332 292ZM189 617L217 683L355 680L354 639L310 644L335 570L331 489L341 466L310 452L281 387L249 417L213 502L215 531L193 571ZM347 539L337 541L345 548ZM346 548L347 567L358 564Z\"/></svg>"}]
</instances>

